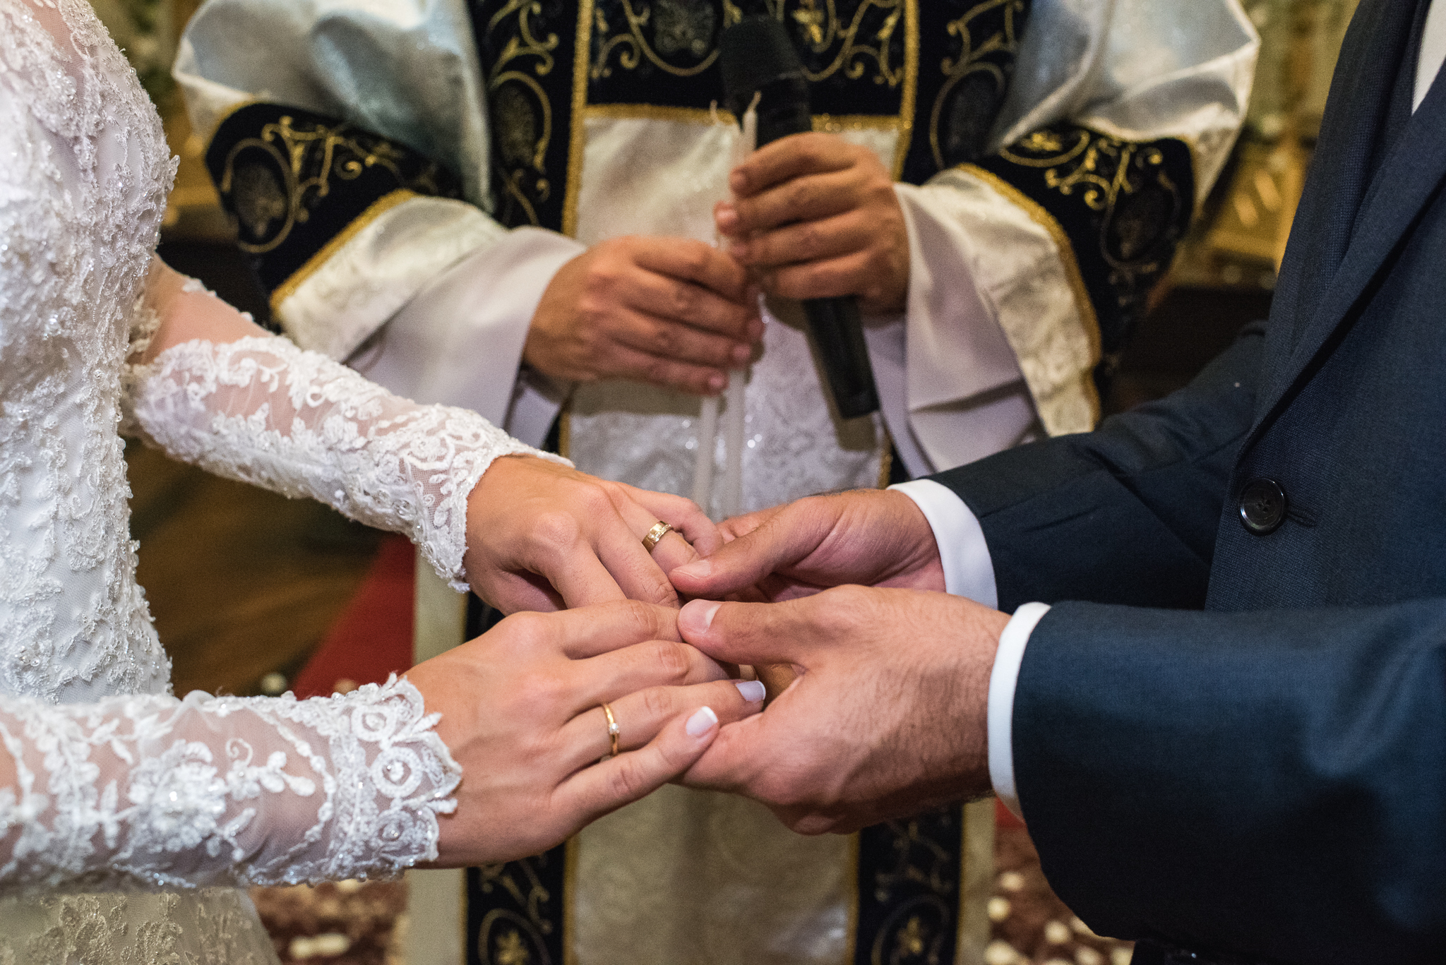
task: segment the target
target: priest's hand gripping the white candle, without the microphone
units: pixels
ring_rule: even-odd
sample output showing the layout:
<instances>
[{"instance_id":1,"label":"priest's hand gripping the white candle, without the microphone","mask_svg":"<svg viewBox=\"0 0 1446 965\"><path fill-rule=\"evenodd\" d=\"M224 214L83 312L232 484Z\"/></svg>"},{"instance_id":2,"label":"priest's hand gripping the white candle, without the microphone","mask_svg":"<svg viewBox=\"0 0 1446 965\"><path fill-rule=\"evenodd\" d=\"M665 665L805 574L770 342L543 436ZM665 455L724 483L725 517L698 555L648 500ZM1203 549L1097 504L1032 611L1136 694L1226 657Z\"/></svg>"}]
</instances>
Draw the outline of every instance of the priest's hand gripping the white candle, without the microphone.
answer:
<instances>
[{"instance_id":1,"label":"priest's hand gripping the white candle, without the microphone","mask_svg":"<svg viewBox=\"0 0 1446 965\"><path fill-rule=\"evenodd\" d=\"M756 289L726 252L685 237L615 237L552 276L522 359L568 382L717 395L762 334Z\"/></svg>"}]
</instances>

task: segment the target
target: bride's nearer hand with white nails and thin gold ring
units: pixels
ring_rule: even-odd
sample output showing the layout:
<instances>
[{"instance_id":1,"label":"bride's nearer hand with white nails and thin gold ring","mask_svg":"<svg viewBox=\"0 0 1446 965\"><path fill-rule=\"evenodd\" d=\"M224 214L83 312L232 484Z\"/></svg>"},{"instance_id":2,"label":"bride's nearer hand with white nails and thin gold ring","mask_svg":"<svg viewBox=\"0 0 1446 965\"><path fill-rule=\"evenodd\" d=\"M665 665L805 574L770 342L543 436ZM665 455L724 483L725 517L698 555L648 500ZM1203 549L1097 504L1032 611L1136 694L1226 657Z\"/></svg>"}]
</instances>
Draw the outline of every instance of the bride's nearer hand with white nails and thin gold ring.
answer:
<instances>
[{"instance_id":1,"label":"bride's nearer hand with white nails and thin gold ring","mask_svg":"<svg viewBox=\"0 0 1446 965\"><path fill-rule=\"evenodd\" d=\"M722 723L763 706L758 684L677 641L675 611L604 603L509 616L408 671L463 767L437 865L545 851L680 775ZM603 702L620 728L610 760Z\"/></svg>"}]
</instances>

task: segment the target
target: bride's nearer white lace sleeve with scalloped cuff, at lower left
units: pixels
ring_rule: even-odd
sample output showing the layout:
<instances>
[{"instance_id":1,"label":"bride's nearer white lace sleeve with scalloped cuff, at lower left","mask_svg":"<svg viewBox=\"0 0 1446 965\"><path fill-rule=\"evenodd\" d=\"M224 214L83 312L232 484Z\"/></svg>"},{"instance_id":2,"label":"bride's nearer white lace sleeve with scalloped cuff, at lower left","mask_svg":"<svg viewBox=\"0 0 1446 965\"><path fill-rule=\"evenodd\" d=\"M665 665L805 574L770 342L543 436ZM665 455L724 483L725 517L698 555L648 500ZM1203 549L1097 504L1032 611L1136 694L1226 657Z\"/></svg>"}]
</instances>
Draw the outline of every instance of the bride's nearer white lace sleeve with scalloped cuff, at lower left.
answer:
<instances>
[{"instance_id":1,"label":"bride's nearer white lace sleeve with scalloped cuff, at lower left","mask_svg":"<svg viewBox=\"0 0 1446 965\"><path fill-rule=\"evenodd\" d=\"M298 884L437 856L461 768L406 680L348 694L0 700L0 893Z\"/></svg>"}]
</instances>

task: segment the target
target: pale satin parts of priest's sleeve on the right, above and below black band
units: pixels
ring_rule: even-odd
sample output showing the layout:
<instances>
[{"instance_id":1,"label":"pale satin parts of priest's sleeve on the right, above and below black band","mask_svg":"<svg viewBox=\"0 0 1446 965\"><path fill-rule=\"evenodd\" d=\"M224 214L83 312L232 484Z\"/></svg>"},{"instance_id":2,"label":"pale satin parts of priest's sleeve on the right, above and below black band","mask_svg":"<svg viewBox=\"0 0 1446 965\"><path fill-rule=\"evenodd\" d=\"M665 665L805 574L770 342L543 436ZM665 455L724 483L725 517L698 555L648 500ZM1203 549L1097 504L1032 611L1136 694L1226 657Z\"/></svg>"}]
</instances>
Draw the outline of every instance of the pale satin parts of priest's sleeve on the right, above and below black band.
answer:
<instances>
[{"instance_id":1,"label":"pale satin parts of priest's sleeve on the right, above and below black band","mask_svg":"<svg viewBox=\"0 0 1446 965\"><path fill-rule=\"evenodd\" d=\"M1238 0L1040 0L986 153L1051 124L1190 146L1205 198L1245 116L1258 39ZM969 165L898 185L910 233L902 405L881 402L910 469L941 472L1099 418L1100 333L1071 239ZM1066 188L1067 192L1067 188ZM870 343L870 347L873 343ZM904 354L904 353L901 353ZM907 425L904 425L907 422Z\"/></svg>"}]
</instances>

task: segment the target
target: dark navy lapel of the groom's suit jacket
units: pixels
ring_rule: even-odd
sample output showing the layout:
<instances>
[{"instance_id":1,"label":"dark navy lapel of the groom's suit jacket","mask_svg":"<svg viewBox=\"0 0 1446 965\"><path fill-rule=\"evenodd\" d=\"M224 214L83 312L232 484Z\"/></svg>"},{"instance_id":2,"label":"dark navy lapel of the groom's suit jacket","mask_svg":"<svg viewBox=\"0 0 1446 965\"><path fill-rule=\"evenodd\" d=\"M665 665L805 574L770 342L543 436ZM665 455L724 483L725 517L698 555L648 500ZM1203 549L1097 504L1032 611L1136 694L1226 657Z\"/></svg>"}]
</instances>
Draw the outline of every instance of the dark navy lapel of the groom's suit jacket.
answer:
<instances>
[{"instance_id":1,"label":"dark navy lapel of the groom's suit jacket","mask_svg":"<svg viewBox=\"0 0 1446 965\"><path fill-rule=\"evenodd\" d=\"M1446 0L1439 0L1446 3ZM1271 307L1265 394L1254 435L1369 288L1446 177L1446 84L1437 77L1378 165L1379 139L1414 7L1362 4L1342 48L1320 148L1312 166ZM1387 71L1385 67L1390 65ZM1374 177L1368 177L1375 168Z\"/></svg>"}]
</instances>

